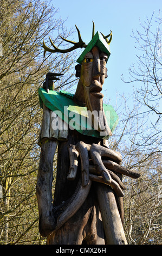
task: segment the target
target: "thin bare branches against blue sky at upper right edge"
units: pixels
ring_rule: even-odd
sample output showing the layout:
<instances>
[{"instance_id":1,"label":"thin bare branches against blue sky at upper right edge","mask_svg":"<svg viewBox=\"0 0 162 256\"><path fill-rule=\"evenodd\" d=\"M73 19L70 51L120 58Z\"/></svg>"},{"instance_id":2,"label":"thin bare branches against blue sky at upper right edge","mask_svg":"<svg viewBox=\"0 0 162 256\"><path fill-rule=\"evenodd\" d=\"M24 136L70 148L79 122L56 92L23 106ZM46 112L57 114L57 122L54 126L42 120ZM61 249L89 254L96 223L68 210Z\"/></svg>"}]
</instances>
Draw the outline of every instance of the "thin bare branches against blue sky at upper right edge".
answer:
<instances>
[{"instance_id":1,"label":"thin bare branches against blue sky at upper right edge","mask_svg":"<svg viewBox=\"0 0 162 256\"><path fill-rule=\"evenodd\" d=\"M153 19L154 22L153 22ZM159 16L147 18L140 22L141 31L133 32L133 38L137 46L137 63L130 69L129 83L139 82L140 88L135 89L135 99L146 106L148 111L154 112L158 120L161 117L161 23Z\"/></svg>"}]
</instances>

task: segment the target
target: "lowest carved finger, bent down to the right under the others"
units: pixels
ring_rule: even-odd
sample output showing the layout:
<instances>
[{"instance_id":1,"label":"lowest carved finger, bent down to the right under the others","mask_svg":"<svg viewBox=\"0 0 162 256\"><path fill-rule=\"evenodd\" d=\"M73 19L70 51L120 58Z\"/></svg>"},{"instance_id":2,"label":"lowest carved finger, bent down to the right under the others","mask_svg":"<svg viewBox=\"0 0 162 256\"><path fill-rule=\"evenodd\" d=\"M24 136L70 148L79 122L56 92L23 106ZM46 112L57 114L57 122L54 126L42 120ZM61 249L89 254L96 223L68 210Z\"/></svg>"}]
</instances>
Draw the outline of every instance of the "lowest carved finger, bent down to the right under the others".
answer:
<instances>
[{"instance_id":1,"label":"lowest carved finger, bent down to the right under the others","mask_svg":"<svg viewBox=\"0 0 162 256\"><path fill-rule=\"evenodd\" d=\"M102 177L96 176L94 174L89 174L89 179L92 181L100 182L100 183L107 184L107 185L111 186L113 188L113 190L115 191L115 193L117 194L117 196L124 197L124 193L122 192L120 186L118 185L118 183L115 180L112 180L111 183L109 184L109 182L105 182L105 180L103 180Z\"/></svg>"}]
</instances>

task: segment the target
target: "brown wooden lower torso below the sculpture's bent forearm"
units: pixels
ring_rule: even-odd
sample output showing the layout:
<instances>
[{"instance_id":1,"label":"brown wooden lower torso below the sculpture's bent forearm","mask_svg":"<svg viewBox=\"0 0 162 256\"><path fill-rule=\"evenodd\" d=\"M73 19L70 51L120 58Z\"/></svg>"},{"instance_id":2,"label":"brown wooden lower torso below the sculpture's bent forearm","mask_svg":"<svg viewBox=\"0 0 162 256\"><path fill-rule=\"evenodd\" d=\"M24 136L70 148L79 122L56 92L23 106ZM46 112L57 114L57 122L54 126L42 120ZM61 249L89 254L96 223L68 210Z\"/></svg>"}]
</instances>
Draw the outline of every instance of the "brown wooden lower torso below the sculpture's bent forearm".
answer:
<instances>
[{"instance_id":1,"label":"brown wooden lower torso below the sculpture's bent forearm","mask_svg":"<svg viewBox=\"0 0 162 256\"><path fill-rule=\"evenodd\" d=\"M48 245L104 245L102 218L95 199L95 187L76 214L47 237Z\"/></svg>"}]
</instances>

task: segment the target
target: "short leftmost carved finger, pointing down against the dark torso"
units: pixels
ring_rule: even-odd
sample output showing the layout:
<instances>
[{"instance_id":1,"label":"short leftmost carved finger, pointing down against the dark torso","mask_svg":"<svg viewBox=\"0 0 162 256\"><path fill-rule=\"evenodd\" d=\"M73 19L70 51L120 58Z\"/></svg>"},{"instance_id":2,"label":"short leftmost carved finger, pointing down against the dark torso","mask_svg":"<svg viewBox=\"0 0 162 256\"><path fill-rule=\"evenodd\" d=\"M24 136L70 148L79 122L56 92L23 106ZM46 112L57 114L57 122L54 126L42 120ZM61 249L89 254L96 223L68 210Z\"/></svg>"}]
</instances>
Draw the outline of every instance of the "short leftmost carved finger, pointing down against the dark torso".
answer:
<instances>
[{"instance_id":1,"label":"short leftmost carved finger, pointing down against the dark torso","mask_svg":"<svg viewBox=\"0 0 162 256\"><path fill-rule=\"evenodd\" d=\"M72 144L69 145L68 150L69 150L70 168L69 168L67 179L74 180L77 173L79 152L75 149L75 146Z\"/></svg>"}]
</instances>

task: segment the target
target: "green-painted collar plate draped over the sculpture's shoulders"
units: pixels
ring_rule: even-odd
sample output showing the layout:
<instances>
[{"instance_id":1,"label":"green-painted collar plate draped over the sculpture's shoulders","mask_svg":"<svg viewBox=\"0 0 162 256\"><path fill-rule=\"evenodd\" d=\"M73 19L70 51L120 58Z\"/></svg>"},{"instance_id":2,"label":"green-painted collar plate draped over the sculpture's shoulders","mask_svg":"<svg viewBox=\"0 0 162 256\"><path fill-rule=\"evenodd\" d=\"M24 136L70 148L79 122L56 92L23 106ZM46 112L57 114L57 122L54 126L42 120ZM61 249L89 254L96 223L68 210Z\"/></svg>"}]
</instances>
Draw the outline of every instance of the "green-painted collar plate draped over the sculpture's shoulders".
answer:
<instances>
[{"instance_id":1,"label":"green-painted collar plate draped over the sculpture's shoulders","mask_svg":"<svg viewBox=\"0 0 162 256\"><path fill-rule=\"evenodd\" d=\"M49 93L47 93L43 88L39 88L38 95L42 108L44 103L46 107L54 111L69 125L75 121L75 130L78 132L87 136L108 139L108 136L101 136L99 131L93 129L86 114L87 108L76 105L73 101L73 94L65 91L55 92L53 90L49 90ZM103 104L103 109L109 127L113 132L118 124L118 115L111 105Z\"/></svg>"}]
</instances>

